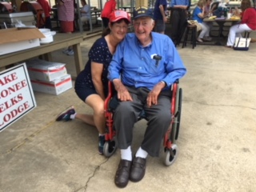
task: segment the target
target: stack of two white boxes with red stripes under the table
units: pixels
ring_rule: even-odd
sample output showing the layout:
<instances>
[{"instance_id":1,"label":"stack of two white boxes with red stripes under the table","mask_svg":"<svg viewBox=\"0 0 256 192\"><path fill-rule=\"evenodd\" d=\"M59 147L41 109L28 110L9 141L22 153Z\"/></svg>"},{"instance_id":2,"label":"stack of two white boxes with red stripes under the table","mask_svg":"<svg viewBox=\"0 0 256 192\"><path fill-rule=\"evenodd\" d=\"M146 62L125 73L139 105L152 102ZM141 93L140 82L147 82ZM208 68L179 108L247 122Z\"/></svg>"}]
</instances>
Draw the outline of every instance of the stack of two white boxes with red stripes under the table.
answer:
<instances>
[{"instance_id":1,"label":"stack of two white boxes with red stripes under the table","mask_svg":"<svg viewBox=\"0 0 256 192\"><path fill-rule=\"evenodd\" d=\"M34 91L58 95L72 88L71 76L63 63L35 58L26 61L26 67Z\"/></svg>"}]
</instances>

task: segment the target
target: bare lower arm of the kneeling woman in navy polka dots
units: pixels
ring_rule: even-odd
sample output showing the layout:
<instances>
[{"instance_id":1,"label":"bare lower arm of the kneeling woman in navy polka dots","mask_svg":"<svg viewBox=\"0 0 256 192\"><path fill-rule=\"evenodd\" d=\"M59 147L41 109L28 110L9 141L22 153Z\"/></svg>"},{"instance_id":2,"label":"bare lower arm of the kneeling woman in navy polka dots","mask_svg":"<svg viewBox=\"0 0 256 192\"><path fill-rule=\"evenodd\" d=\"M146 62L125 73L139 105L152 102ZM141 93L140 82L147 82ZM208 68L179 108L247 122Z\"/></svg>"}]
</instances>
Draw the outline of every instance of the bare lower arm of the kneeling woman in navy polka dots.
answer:
<instances>
[{"instance_id":1,"label":"bare lower arm of the kneeling woman in navy polka dots","mask_svg":"<svg viewBox=\"0 0 256 192\"><path fill-rule=\"evenodd\" d=\"M101 98L105 100L103 83L102 83L103 64L98 62L91 62L90 65L91 65L91 78L93 80L95 90L101 96Z\"/></svg>"}]
</instances>

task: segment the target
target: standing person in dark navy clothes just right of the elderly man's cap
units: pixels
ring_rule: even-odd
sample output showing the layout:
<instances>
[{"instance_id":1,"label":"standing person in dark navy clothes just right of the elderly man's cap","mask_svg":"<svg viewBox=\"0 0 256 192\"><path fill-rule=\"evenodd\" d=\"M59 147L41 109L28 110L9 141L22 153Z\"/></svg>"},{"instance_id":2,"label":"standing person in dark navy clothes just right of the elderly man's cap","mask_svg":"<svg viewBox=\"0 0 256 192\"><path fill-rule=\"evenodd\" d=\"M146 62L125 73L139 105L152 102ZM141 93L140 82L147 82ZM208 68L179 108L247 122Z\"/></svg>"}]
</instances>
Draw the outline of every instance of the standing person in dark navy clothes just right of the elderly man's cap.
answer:
<instances>
[{"instance_id":1,"label":"standing person in dark navy clothes just right of the elderly man's cap","mask_svg":"<svg viewBox=\"0 0 256 192\"><path fill-rule=\"evenodd\" d=\"M164 34L166 30L166 0L156 0L154 3L154 31L160 34Z\"/></svg>"}]
</instances>

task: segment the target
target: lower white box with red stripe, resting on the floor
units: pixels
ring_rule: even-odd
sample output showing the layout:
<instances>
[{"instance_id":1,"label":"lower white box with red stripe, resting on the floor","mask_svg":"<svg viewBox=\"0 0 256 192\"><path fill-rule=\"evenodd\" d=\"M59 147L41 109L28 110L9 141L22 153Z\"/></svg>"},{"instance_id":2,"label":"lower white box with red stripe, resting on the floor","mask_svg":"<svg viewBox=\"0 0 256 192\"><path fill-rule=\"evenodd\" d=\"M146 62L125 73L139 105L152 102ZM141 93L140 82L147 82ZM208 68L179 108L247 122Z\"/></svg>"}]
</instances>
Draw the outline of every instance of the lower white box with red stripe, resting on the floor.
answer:
<instances>
[{"instance_id":1,"label":"lower white box with red stripe, resting on the floor","mask_svg":"<svg viewBox=\"0 0 256 192\"><path fill-rule=\"evenodd\" d=\"M38 81L30 79L34 91L46 94L61 94L72 88L72 80L70 74L64 75L62 78L55 79L52 82Z\"/></svg>"}]
</instances>

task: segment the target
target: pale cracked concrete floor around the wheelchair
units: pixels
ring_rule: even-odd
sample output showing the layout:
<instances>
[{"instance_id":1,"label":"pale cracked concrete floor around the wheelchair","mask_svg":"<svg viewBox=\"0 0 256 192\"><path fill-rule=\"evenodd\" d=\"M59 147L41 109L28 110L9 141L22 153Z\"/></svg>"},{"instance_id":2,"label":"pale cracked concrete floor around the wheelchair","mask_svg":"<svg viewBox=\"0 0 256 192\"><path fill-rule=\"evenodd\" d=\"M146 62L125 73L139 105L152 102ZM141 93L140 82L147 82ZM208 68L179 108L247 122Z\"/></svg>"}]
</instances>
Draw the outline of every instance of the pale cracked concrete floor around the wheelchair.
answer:
<instances>
[{"instance_id":1,"label":"pale cracked concrete floor around the wheelchair","mask_svg":"<svg viewBox=\"0 0 256 192\"><path fill-rule=\"evenodd\" d=\"M97 37L98 38L98 37ZM82 42L84 62L96 38ZM98 154L98 134L80 121L55 122L68 106L92 113L74 89L58 96L34 93L38 106L0 133L1 192L252 192L256 189L256 43L249 51L223 46L187 46L178 52L188 73L183 90L177 161L169 167L148 158L141 182L114 185L120 153ZM75 74L73 58L54 52ZM134 128L134 151L146 122ZM162 152L164 157L164 153Z\"/></svg>"}]
</instances>

